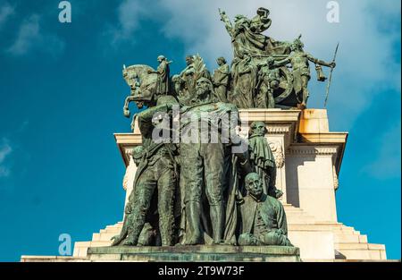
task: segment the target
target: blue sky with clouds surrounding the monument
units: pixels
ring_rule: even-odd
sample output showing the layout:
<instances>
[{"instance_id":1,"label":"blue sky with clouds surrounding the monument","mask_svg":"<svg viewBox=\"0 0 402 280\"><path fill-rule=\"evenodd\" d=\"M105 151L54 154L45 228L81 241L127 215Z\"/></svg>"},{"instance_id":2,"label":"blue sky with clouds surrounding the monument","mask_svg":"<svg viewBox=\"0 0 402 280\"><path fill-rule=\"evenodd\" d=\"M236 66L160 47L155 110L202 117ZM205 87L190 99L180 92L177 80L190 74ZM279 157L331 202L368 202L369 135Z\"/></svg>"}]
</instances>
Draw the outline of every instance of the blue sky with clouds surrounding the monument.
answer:
<instances>
[{"instance_id":1,"label":"blue sky with clouds surrounding the monument","mask_svg":"<svg viewBox=\"0 0 402 280\"><path fill-rule=\"evenodd\" d=\"M56 255L58 237L87 241L121 220L124 166L113 132L129 89L122 64L155 66L157 55L184 67L185 55L231 57L217 8L233 17L272 12L268 35L303 33L306 50L331 60L340 42L328 106L331 131L348 131L339 174L339 221L385 243L400 259L400 1L78 1L72 22L59 1L0 0L0 260ZM312 79L310 107L325 85Z\"/></svg>"}]
</instances>

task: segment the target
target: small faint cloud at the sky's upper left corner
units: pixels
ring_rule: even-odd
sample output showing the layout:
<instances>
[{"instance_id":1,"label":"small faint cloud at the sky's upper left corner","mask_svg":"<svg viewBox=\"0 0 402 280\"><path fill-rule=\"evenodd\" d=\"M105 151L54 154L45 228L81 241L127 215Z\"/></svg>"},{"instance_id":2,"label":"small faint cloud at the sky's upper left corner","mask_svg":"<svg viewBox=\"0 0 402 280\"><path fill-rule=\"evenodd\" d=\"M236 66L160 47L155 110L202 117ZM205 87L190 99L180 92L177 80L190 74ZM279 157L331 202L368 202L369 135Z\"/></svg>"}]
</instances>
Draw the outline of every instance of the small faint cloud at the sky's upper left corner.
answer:
<instances>
[{"instance_id":1,"label":"small faint cloud at the sky's upper left corner","mask_svg":"<svg viewBox=\"0 0 402 280\"><path fill-rule=\"evenodd\" d=\"M20 30L13 45L7 49L12 55L26 55L33 49L51 55L58 55L63 51L64 42L55 35L42 32L40 26L40 16L31 15L21 23Z\"/></svg>"}]
</instances>

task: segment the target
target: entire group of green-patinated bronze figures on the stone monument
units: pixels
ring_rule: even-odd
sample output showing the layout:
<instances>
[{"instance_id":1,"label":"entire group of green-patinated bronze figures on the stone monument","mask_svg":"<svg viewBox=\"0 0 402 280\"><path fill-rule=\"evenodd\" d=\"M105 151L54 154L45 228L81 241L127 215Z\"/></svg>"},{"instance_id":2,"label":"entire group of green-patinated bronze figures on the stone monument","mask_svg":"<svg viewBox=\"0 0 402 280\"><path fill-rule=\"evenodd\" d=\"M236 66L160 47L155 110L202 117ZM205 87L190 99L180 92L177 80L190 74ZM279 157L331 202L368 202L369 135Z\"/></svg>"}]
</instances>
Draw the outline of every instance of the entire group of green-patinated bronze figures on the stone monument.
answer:
<instances>
[{"instance_id":1,"label":"entire group of green-patinated bronze figures on the stone monument","mask_svg":"<svg viewBox=\"0 0 402 280\"><path fill-rule=\"evenodd\" d=\"M238 15L233 23L220 13L234 50L231 66L219 57L211 75L199 55L188 55L186 68L171 77L171 62L160 55L156 70L123 69L131 89L124 115L130 116L131 101L147 109L133 118L142 146L132 151L138 170L114 246L292 246L265 123L251 123L248 138L241 139L233 133L237 123L222 120L230 115L239 122L239 108L304 108L309 61L320 81L321 65L335 64L304 52L300 38L288 43L263 35L271 25L264 8L253 19ZM186 116L179 127L171 125L175 108ZM166 135L174 130L180 140L155 140L155 129ZM223 134L229 139L222 140Z\"/></svg>"}]
</instances>

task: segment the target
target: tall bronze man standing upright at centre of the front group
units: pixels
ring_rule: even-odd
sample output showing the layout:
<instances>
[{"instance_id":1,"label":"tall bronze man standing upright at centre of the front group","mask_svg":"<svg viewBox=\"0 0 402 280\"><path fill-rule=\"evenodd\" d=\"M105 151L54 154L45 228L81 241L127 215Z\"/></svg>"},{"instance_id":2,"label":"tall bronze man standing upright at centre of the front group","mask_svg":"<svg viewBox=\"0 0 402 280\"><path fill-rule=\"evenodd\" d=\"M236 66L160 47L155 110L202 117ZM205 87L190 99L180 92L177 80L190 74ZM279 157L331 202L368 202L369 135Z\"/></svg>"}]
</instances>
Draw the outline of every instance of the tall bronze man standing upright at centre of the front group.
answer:
<instances>
[{"instance_id":1,"label":"tall bronze man standing upright at centre of the front group","mask_svg":"<svg viewBox=\"0 0 402 280\"><path fill-rule=\"evenodd\" d=\"M181 110L180 176L185 182L184 205L188 226L184 243L187 245L203 242L200 217L204 190L210 209L214 243L222 243L225 224L224 180L229 163L225 153L227 144L222 143L222 131L216 125L220 125L218 120L228 117L230 113L239 113L234 105L215 103L213 91L211 81L198 79L196 96L192 102L194 105L182 107ZM219 133L215 140L209 134L213 131ZM189 133L191 140L184 139Z\"/></svg>"}]
</instances>

